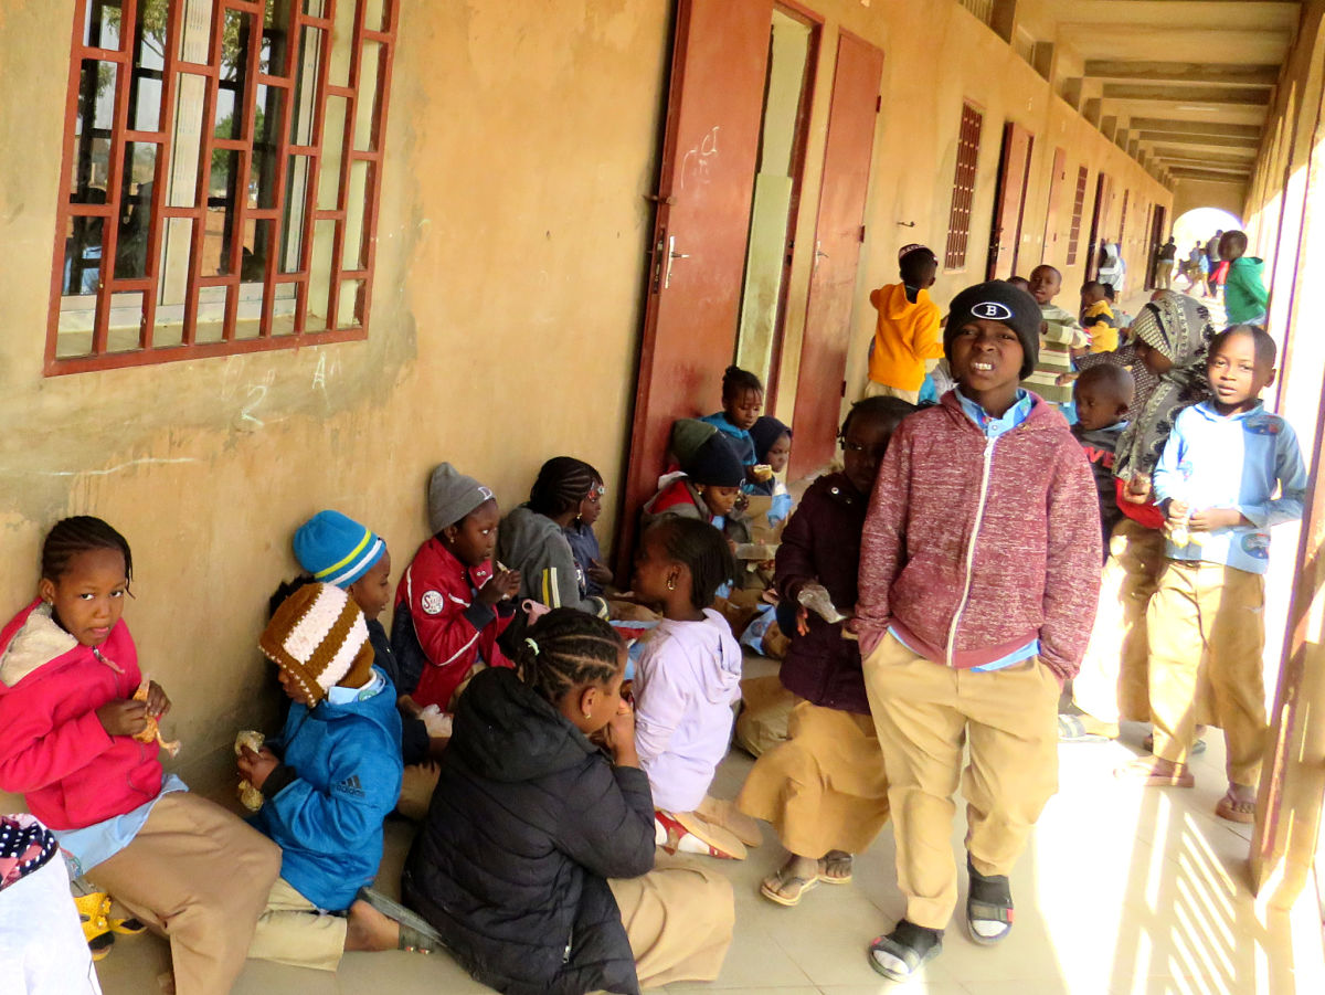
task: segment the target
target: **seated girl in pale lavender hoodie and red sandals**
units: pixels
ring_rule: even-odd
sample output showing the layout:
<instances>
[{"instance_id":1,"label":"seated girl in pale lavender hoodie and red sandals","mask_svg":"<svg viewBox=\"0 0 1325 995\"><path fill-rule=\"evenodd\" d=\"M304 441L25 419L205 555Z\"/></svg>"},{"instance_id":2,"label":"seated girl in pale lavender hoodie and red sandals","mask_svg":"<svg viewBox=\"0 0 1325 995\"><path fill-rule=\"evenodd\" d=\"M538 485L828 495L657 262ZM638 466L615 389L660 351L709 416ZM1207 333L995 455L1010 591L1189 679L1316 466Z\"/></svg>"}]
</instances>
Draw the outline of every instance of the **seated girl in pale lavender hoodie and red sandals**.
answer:
<instances>
[{"instance_id":1,"label":"seated girl in pale lavender hoodie and red sandals","mask_svg":"<svg viewBox=\"0 0 1325 995\"><path fill-rule=\"evenodd\" d=\"M731 738L741 697L741 647L713 609L735 564L722 537L685 518L645 530L631 580L662 621L635 676L635 742L657 806L657 843L669 852L743 859L759 827L709 784Z\"/></svg>"}]
</instances>

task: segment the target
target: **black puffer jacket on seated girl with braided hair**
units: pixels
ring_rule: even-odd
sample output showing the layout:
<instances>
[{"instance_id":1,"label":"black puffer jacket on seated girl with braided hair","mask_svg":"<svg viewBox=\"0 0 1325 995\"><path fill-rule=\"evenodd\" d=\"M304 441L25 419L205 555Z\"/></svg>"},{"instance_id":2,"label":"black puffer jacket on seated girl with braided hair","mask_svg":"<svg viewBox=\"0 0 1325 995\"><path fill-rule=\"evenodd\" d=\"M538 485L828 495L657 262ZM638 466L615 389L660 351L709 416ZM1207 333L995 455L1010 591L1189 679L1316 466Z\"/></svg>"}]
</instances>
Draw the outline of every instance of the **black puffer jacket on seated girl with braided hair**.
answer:
<instances>
[{"instance_id":1,"label":"black puffer jacket on seated girl with braided hair","mask_svg":"<svg viewBox=\"0 0 1325 995\"><path fill-rule=\"evenodd\" d=\"M509 995L639 992L608 877L653 868L648 778L613 767L514 670L473 678L401 893Z\"/></svg>"}]
</instances>

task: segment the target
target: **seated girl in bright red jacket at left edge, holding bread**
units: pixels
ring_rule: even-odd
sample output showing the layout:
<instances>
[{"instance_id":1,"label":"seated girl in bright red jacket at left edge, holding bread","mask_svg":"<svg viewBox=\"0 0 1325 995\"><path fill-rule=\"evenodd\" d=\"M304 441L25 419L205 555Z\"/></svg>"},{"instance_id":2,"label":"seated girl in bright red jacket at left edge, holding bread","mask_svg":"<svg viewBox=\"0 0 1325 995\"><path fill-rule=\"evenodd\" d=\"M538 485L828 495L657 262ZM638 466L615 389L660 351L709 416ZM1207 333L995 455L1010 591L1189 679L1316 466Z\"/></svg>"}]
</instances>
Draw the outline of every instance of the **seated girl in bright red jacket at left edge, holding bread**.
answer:
<instances>
[{"instance_id":1,"label":"seated girl in bright red jacket at left edge, holding bread","mask_svg":"<svg viewBox=\"0 0 1325 995\"><path fill-rule=\"evenodd\" d=\"M170 939L179 995L223 995L281 852L163 774L154 730L170 700L121 617L132 571L99 518L46 535L38 598L0 632L0 790L23 792L74 872Z\"/></svg>"}]
</instances>

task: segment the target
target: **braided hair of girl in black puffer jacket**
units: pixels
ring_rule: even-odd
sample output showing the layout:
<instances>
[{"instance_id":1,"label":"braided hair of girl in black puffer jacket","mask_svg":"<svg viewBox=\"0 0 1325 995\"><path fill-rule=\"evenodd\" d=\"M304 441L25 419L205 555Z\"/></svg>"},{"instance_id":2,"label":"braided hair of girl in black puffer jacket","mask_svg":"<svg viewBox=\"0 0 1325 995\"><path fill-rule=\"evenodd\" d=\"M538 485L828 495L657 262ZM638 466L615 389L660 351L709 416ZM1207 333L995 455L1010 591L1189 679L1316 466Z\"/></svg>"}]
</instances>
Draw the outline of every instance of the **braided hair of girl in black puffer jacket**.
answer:
<instances>
[{"instance_id":1,"label":"braided hair of girl in black puffer jacket","mask_svg":"<svg viewBox=\"0 0 1325 995\"><path fill-rule=\"evenodd\" d=\"M595 615L553 608L527 632L515 651L515 669L529 688L553 705L578 688L607 684L620 669L621 637Z\"/></svg>"}]
</instances>

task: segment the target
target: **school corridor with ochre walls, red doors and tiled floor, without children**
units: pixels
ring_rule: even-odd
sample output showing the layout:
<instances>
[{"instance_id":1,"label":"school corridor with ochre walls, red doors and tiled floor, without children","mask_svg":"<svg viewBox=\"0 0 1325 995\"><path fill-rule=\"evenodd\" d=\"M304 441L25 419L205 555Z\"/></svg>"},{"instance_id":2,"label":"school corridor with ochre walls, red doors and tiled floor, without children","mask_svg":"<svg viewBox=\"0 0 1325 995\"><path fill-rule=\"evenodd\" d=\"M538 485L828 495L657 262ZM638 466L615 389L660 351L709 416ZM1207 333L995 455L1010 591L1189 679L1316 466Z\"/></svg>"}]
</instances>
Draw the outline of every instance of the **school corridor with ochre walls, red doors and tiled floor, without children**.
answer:
<instances>
[{"instance_id":1,"label":"school corridor with ochre walls, red doors and tiled floor, without children","mask_svg":"<svg viewBox=\"0 0 1325 995\"><path fill-rule=\"evenodd\" d=\"M1136 314L1211 219L1264 261L1265 401L1312 473L1275 533L1256 823L1214 815L1218 735L1194 790L1113 779L1141 726L1063 745L1011 938L950 930L909 990L1325 992L1325 0L0 0L3 617L53 522L111 522L166 767L233 804L235 735L277 714L268 598L319 509L372 523L395 590L433 466L505 510L574 454L625 583L669 427L729 363L794 427L788 482L837 457L904 246L941 309L1048 264L1075 313L1108 260ZM409 824L387 837L396 893ZM795 909L758 893L782 860L766 828L723 866L723 972L672 991L890 988L865 947L902 909L892 829ZM107 995L167 970L150 935L97 966ZM277 991L485 988L404 953L236 987Z\"/></svg>"}]
</instances>

